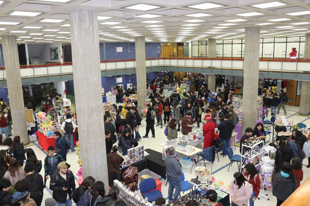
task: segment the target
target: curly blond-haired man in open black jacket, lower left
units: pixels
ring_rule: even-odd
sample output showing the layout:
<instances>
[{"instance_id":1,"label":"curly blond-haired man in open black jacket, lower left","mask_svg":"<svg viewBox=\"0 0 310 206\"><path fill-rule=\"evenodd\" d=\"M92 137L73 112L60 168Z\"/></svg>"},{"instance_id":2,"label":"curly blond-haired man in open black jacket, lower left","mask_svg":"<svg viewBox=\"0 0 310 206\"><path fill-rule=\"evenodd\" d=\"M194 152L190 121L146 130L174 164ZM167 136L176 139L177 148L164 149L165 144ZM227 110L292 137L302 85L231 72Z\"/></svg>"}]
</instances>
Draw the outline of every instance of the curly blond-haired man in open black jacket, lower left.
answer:
<instances>
[{"instance_id":1,"label":"curly blond-haired man in open black jacket, lower left","mask_svg":"<svg viewBox=\"0 0 310 206\"><path fill-rule=\"evenodd\" d=\"M75 190L73 173L68 170L69 164L60 162L58 171L52 175L50 189L53 191L53 198L58 205L71 205L71 194Z\"/></svg>"}]
</instances>

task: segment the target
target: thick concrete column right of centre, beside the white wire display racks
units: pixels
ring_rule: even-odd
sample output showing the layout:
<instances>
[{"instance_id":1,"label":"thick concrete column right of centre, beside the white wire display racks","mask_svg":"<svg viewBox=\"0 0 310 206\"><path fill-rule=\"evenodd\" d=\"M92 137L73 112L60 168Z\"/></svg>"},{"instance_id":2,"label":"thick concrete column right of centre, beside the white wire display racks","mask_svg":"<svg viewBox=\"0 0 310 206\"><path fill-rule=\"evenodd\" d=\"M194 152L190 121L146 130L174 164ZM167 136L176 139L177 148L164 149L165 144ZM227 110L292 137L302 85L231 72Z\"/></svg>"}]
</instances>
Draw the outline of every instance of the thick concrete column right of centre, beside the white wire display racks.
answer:
<instances>
[{"instance_id":1,"label":"thick concrete column right of centre, beside the white wire display racks","mask_svg":"<svg viewBox=\"0 0 310 206\"><path fill-rule=\"evenodd\" d=\"M247 127L254 128L257 120L259 36L259 27L246 27L244 45L242 132L244 132Z\"/></svg>"}]
</instances>

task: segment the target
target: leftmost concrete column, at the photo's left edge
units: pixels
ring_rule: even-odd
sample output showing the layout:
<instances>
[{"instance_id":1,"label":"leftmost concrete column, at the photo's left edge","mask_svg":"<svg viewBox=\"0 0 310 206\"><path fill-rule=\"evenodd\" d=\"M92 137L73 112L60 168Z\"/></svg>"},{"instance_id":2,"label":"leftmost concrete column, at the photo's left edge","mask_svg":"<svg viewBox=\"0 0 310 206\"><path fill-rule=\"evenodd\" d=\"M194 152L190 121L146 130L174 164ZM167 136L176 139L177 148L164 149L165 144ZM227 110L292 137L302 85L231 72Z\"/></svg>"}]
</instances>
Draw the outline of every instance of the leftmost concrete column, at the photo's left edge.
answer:
<instances>
[{"instance_id":1,"label":"leftmost concrete column, at the photo's left edge","mask_svg":"<svg viewBox=\"0 0 310 206\"><path fill-rule=\"evenodd\" d=\"M16 36L2 35L1 38L14 136L20 136L21 141L26 145L29 143L29 137L27 133Z\"/></svg>"}]
</instances>

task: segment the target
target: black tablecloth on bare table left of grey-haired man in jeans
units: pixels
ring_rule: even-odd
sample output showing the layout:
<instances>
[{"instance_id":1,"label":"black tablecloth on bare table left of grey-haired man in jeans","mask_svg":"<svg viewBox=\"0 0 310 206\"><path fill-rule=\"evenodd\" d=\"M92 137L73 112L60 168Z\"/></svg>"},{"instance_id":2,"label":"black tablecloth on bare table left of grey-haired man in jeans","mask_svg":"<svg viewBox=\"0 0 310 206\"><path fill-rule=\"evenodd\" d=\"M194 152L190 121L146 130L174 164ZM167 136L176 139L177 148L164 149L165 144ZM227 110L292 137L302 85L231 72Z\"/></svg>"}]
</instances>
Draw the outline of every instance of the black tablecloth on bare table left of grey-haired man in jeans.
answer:
<instances>
[{"instance_id":1,"label":"black tablecloth on bare table left of grey-haired man in jeans","mask_svg":"<svg viewBox=\"0 0 310 206\"><path fill-rule=\"evenodd\" d=\"M148 170L160 175L166 179L166 165L165 161L162 160L162 153L154 151L153 149L144 149L150 155L145 156L148 160Z\"/></svg>"}]
</instances>

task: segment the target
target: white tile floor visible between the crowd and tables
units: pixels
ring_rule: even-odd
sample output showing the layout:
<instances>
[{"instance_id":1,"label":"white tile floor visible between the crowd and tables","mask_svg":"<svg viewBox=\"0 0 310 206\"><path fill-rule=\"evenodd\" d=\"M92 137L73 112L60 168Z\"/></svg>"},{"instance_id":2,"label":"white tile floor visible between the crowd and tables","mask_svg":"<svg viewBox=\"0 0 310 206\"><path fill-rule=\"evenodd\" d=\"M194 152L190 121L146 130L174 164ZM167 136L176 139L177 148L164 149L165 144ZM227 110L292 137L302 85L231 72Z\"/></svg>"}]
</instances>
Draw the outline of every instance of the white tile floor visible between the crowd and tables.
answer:
<instances>
[{"instance_id":1,"label":"white tile floor visible between the crowd and tables","mask_svg":"<svg viewBox=\"0 0 310 206\"><path fill-rule=\"evenodd\" d=\"M302 122L304 124L306 124L308 127L310 126L310 120L308 119L308 117L305 116L298 116L296 114L298 114L299 111L299 107L294 107L294 106L286 106L286 110L287 110L287 116L286 118L289 120L293 120L295 123L299 123ZM270 115L270 113L269 113ZM284 115L283 111L280 111L280 115ZM269 116L270 118L270 116ZM255 125L253 125L254 127ZM139 141L140 145L144 145L144 148L150 148L153 150L156 150L158 152L162 152L162 147L160 146L160 143L167 141L166 136L164 135L164 128L165 126L161 129L160 126L156 127L155 126L155 136L156 138L152 138L151 135L149 135L149 138L143 138L141 141ZM144 121L144 127L139 128L140 129L140 135L144 136L145 135L145 121ZM266 139L266 141L268 141L268 138ZM34 152L36 153L38 159L41 159L42 162L45 158L45 156L47 155L47 153L42 150L40 148L40 146L38 146L38 142L34 142L34 145L30 146ZM233 152L238 154L239 152L238 147L236 148L236 150L234 150L233 147ZM105 152L105 149L102 149L102 153ZM181 160L184 156L182 154L178 155L178 159ZM67 162L71 165L70 170L72 170L73 174L77 174L77 171L79 169L78 164L77 164L77 160L78 157L75 153L71 154L69 153L67 155ZM218 180L222 180L224 181L225 184L230 184L231 180L233 179L232 175L234 172L238 171L237 168L237 164L233 163L232 166L229 169L229 172L227 172L228 170L228 166L229 166L229 159L228 156L223 158L223 157L219 157L219 161L217 160L217 157L215 159L215 162L213 164L213 174L215 175L215 178ZM310 169L306 168L305 165L308 165L308 158L306 158L303 161L303 179L307 179L310 175ZM185 174L185 180L190 180L194 177L193 174L190 174L190 168L182 168L184 174ZM41 171L41 174L44 174L44 170ZM149 170L143 170L141 173L139 173L139 178L141 174L148 174L154 178L160 179L162 181L162 194L163 197L166 198L166 203L168 203L168 185L165 186L166 184L166 180L162 179L159 175L154 174L153 172L149 171ZM77 175L75 175L77 177ZM303 181L301 182L303 183ZM139 187L139 183L138 183L138 187ZM139 191L138 191L139 193ZM277 203L277 199L276 197L272 196L272 192L271 191L267 191L268 196L270 197L270 200L267 201L267 199L265 198L261 198L260 200L256 200L255 201L255 205L276 205ZM44 189L44 197L43 197L43 204L44 205L44 200L46 198L49 198L52 196L52 191L49 189L49 180L47 180L47 187ZM73 204L74 205L74 204Z\"/></svg>"}]
</instances>

